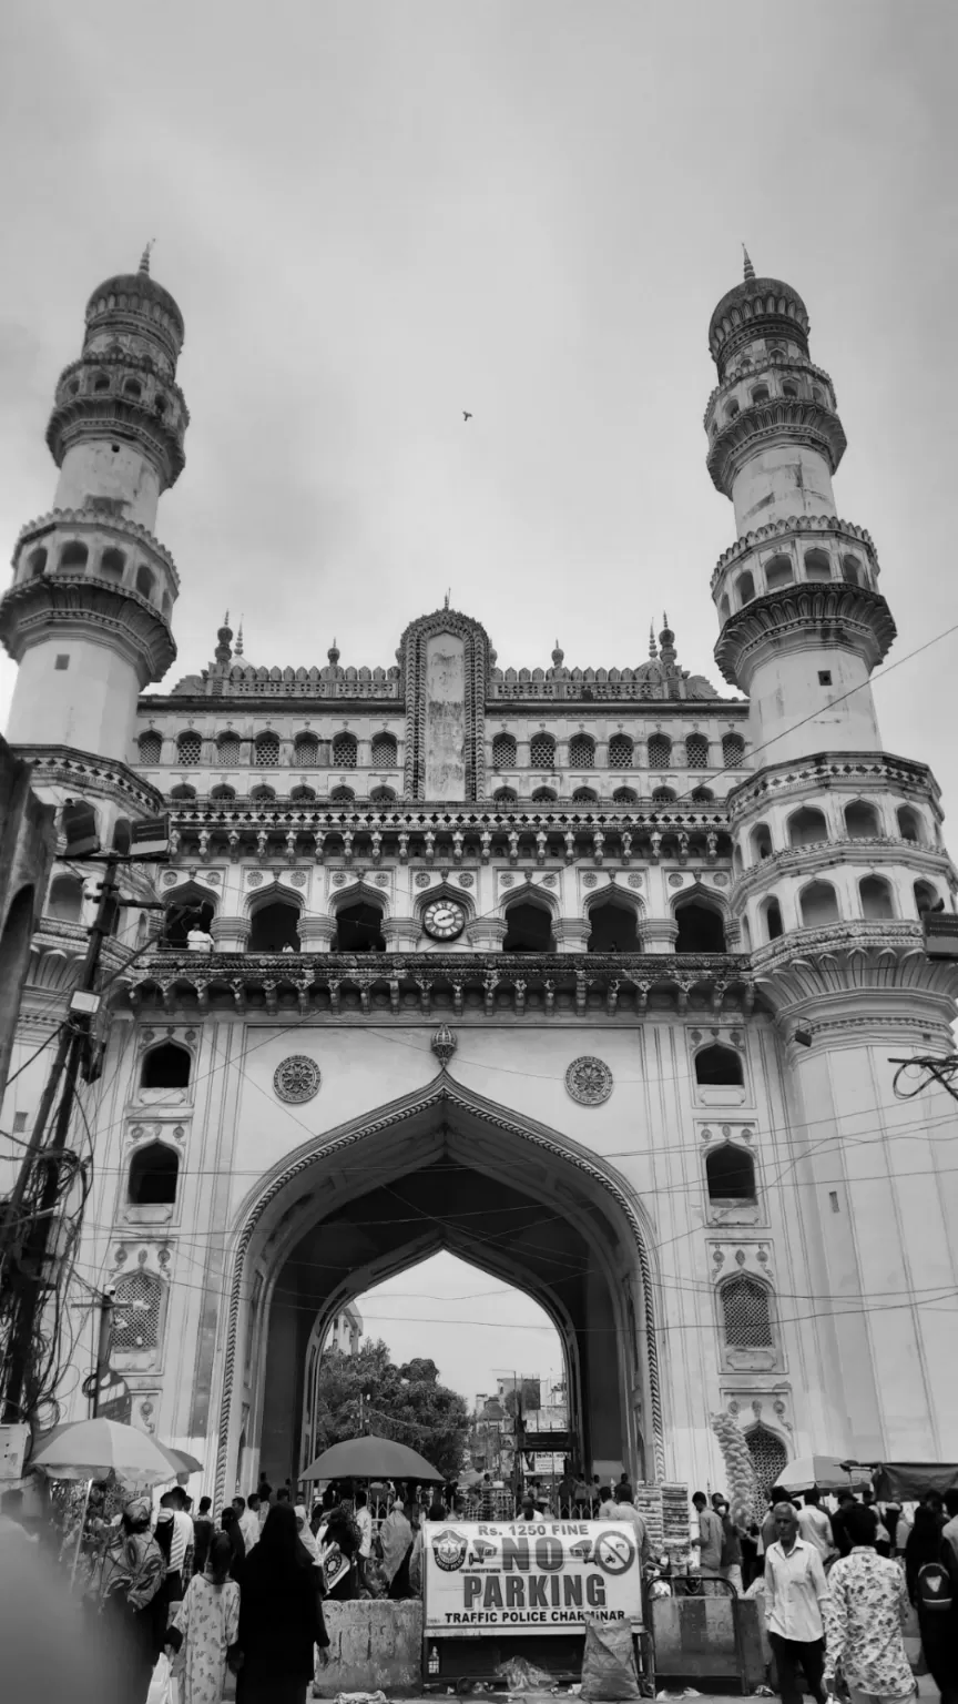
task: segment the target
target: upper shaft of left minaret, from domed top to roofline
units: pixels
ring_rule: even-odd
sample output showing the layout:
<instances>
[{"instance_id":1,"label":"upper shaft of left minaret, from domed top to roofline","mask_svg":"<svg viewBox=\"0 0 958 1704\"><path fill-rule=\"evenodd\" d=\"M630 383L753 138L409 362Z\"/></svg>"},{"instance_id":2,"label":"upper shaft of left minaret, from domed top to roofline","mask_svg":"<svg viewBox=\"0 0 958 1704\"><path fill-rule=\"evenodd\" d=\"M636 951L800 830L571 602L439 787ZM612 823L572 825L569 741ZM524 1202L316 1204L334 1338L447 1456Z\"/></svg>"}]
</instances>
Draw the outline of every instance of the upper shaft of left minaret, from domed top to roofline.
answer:
<instances>
[{"instance_id":1,"label":"upper shaft of left minaret, from domed top to roofline","mask_svg":"<svg viewBox=\"0 0 958 1704\"><path fill-rule=\"evenodd\" d=\"M85 317L46 431L55 506L20 532L0 602L0 639L19 663L7 738L126 762L136 699L176 656L179 579L153 527L184 467L184 325L148 250L136 273L94 290Z\"/></svg>"}]
</instances>

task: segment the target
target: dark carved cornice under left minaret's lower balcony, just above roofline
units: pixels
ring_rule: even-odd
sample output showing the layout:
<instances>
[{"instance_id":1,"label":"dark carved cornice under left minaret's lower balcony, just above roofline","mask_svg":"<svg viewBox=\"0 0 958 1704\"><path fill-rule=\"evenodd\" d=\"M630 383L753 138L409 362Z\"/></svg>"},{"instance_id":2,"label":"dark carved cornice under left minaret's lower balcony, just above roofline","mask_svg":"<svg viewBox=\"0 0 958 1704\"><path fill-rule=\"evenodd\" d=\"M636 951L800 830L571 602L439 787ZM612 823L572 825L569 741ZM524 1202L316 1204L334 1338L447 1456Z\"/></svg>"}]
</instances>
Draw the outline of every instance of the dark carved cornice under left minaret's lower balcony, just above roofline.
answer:
<instances>
[{"instance_id":1,"label":"dark carved cornice under left minaret's lower balcony, just above roofline","mask_svg":"<svg viewBox=\"0 0 958 1704\"><path fill-rule=\"evenodd\" d=\"M162 680L176 656L160 612L130 586L94 574L41 574L12 586L0 602L0 639L15 663L34 639L55 637L58 630L89 636L90 627L126 653L141 687Z\"/></svg>"}]
</instances>

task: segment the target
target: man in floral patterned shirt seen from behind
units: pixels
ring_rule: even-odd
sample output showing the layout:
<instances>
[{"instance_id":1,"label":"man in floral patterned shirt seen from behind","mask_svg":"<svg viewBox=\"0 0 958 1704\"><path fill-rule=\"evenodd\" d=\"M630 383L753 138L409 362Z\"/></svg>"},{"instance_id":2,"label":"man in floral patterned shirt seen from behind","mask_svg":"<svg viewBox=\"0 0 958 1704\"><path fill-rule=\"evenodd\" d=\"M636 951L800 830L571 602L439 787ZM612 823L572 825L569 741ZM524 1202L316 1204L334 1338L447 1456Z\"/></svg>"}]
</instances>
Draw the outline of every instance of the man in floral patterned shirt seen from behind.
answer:
<instances>
[{"instance_id":1,"label":"man in floral patterned shirt seen from behind","mask_svg":"<svg viewBox=\"0 0 958 1704\"><path fill-rule=\"evenodd\" d=\"M856 1503L845 1525L851 1554L839 1557L828 1574L825 1684L832 1687L840 1670L852 1704L902 1704L917 1690L902 1643L909 1614L905 1576L897 1563L876 1554L873 1508Z\"/></svg>"}]
</instances>

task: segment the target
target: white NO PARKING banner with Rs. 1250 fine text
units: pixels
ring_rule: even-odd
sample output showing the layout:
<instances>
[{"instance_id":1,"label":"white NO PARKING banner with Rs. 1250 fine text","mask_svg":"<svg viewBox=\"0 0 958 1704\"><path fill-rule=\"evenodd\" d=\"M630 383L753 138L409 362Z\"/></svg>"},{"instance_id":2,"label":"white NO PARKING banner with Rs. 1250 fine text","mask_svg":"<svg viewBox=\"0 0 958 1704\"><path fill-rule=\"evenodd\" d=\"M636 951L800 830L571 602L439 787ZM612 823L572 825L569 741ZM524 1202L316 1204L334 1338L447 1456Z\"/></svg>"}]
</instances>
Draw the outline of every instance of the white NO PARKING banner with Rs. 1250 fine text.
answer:
<instances>
[{"instance_id":1,"label":"white NO PARKING banner with Rs. 1250 fine text","mask_svg":"<svg viewBox=\"0 0 958 1704\"><path fill-rule=\"evenodd\" d=\"M641 1622L641 1557L624 1520L424 1522L426 1634L585 1632Z\"/></svg>"}]
</instances>

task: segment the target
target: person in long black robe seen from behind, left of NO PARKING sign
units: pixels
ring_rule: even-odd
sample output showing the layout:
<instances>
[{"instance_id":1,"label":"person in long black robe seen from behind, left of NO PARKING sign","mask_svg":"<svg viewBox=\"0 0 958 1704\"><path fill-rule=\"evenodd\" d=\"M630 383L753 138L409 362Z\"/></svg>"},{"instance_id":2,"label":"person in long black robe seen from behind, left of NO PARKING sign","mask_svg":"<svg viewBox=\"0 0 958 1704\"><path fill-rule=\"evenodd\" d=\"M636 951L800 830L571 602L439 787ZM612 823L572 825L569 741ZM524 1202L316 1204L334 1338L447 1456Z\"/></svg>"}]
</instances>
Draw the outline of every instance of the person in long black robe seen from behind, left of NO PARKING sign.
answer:
<instances>
[{"instance_id":1,"label":"person in long black robe seen from behind, left of NO PARKING sign","mask_svg":"<svg viewBox=\"0 0 958 1704\"><path fill-rule=\"evenodd\" d=\"M300 1544L291 1503L276 1503L244 1564L237 1704L305 1704L314 1649L324 1663L327 1646L320 1569Z\"/></svg>"}]
</instances>

